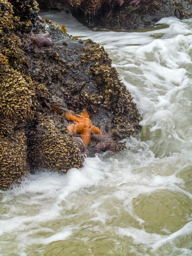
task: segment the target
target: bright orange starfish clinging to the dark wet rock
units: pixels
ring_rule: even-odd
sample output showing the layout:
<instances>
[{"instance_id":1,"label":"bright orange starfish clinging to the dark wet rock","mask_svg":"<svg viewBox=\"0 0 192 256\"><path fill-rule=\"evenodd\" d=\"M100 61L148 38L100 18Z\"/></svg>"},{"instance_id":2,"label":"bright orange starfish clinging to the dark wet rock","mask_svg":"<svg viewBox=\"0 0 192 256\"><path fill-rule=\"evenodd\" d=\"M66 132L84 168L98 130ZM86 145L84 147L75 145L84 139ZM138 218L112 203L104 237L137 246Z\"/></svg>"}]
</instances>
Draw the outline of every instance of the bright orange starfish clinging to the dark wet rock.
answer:
<instances>
[{"instance_id":1,"label":"bright orange starfish clinging to the dark wet rock","mask_svg":"<svg viewBox=\"0 0 192 256\"><path fill-rule=\"evenodd\" d=\"M89 118L89 115L87 113L87 110L84 109L80 116L75 116L74 112L72 110L68 111L65 114L65 117L68 120L74 121L74 124L67 126L67 131L72 135L76 136L76 133L81 134L81 139L84 141L84 145L87 147L90 141L90 135L92 133L100 134L102 135L102 132L100 129L94 125L92 125L92 122Z\"/></svg>"}]
</instances>

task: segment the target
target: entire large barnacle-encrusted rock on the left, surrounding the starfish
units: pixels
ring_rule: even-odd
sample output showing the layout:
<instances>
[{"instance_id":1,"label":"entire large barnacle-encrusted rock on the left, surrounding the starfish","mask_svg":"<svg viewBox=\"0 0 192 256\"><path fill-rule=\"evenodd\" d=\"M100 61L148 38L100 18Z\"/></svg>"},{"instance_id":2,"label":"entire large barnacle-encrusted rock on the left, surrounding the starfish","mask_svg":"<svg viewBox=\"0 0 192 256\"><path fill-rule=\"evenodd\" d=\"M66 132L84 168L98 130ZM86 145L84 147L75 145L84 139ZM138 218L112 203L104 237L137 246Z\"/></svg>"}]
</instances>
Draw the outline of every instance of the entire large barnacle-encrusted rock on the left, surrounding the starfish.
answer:
<instances>
[{"instance_id":1,"label":"entire large barnacle-encrusted rock on the left, surrounding the starfish","mask_svg":"<svg viewBox=\"0 0 192 256\"><path fill-rule=\"evenodd\" d=\"M140 131L136 104L103 47L38 17L36 1L0 0L0 39L0 189L34 169L83 165L65 110L86 108L116 141Z\"/></svg>"}]
</instances>

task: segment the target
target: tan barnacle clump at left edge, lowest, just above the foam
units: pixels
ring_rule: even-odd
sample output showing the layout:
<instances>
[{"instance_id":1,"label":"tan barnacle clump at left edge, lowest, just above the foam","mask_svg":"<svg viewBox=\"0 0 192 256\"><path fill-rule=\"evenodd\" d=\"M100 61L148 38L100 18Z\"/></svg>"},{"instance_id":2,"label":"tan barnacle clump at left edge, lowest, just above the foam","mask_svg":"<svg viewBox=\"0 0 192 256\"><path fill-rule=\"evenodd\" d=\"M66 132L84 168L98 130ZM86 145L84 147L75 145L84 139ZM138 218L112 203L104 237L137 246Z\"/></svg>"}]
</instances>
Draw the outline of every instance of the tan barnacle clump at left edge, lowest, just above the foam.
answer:
<instances>
[{"instance_id":1,"label":"tan barnacle clump at left edge, lowest, just above the foam","mask_svg":"<svg viewBox=\"0 0 192 256\"><path fill-rule=\"evenodd\" d=\"M9 189L29 172L24 131L15 131L9 137L0 136L0 189Z\"/></svg>"}]
</instances>

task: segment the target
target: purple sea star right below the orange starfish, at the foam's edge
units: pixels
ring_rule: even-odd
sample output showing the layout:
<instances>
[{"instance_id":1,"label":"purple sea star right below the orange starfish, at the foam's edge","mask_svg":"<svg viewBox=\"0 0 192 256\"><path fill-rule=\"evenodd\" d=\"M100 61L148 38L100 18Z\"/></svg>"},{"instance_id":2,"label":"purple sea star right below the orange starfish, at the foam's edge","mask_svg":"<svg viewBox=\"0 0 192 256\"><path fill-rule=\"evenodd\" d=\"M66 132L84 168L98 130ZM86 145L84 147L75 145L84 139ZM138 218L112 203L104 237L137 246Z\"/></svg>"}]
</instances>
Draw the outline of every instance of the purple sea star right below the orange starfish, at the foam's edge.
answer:
<instances>
[{"instance_id":1,"label":"purple sea star right below the orange starfish, at the foam's edge","mask_svg":"<svg viewBox=\"0 0 192 256\"><path fill-rule=\"evenodd\" d=\"M102 135L99 134L92 134L93 140L98 141L97 145L95 146L96 153L100 153L101 151L104 151L105 149L118 152L119 146L114 142L114 140L111 138L111 136L108 135L108 133L105 131L105 127L102 126L100 128Z\"/></svg>"}]
</instances>

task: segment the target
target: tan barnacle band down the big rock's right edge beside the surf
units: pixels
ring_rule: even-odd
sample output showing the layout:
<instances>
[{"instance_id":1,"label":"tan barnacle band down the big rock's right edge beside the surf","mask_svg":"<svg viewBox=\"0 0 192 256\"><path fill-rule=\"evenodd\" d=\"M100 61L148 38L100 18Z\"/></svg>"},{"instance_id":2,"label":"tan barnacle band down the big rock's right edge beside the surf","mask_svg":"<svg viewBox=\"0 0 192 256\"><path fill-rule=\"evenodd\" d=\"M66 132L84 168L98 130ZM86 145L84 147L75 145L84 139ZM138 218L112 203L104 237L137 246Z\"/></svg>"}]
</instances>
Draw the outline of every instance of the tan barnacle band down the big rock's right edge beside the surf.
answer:
<instances>
[{"instance_id":1,"label":"tan barnacle band down the big rock's right edge beside the surf","mask_svg":"<svg viewBox=\"0 0 192 256\"><path fill-rule=\"evenodd\" d=\"M135 134L136 131L140 130L140 114L131 94L125 85L119 81L119 75L116 69L111 67L111 60L103 47L99 47L99 44L91 40L88 40L88 42L89 46L85 47L85 53L81 55L81 65L84 66L91 61L89 73L93 76L99 93L93 96L91 94L91 89L93 90L93 88L90 89L89 86L90 94L86 97L86 101L87 104L90 104L89 109L92 108L96 116L99 112L103 112L101 116L106 115L104 111L108 113L108 120L106 121L105 119L99 119L97 116L99 120L97 125L99 123L100 125L110 125L115 139L122 139ZM92 100L92 97L95 101ZM111 113L110 115L109 112Z\"/></svg>"}]
</instances>

